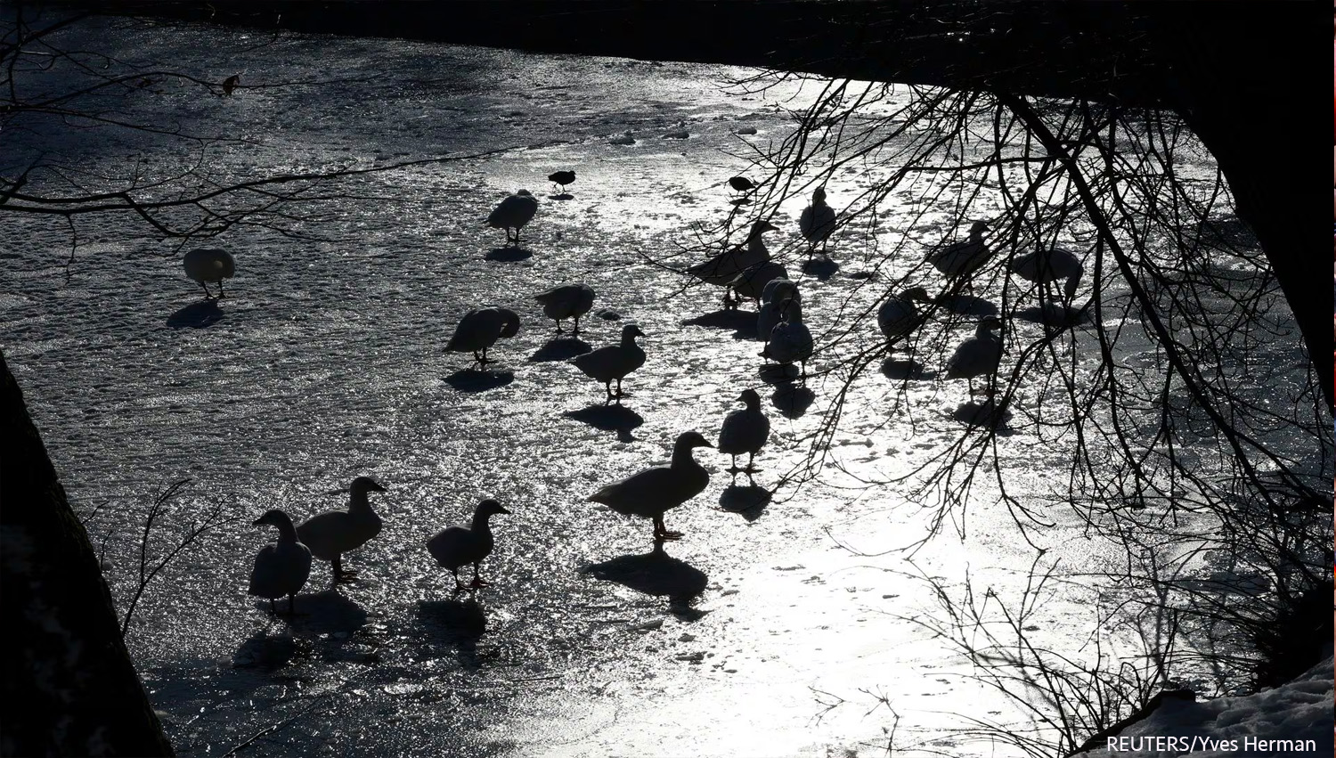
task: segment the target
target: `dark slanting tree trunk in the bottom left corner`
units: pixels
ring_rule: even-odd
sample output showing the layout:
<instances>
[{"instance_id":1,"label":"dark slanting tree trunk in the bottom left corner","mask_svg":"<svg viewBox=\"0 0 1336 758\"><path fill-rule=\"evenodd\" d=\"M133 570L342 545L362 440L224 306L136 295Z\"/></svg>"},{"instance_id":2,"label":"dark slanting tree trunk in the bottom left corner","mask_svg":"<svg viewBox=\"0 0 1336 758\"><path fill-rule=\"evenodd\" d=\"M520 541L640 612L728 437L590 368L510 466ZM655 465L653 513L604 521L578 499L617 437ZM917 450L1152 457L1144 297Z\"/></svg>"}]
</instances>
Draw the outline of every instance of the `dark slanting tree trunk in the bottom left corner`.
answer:
<instances>
[{"instance_id":1,"label":"dark slanting tree trunk in the bottom left corner","mask_svg":"<svg viewBox=\"0 0 1336 758\"><path fill-rule=\"evenodd\" d=\"M3 353L0 418L0 754L172 755Z\"/></svg>"}]
</instances>

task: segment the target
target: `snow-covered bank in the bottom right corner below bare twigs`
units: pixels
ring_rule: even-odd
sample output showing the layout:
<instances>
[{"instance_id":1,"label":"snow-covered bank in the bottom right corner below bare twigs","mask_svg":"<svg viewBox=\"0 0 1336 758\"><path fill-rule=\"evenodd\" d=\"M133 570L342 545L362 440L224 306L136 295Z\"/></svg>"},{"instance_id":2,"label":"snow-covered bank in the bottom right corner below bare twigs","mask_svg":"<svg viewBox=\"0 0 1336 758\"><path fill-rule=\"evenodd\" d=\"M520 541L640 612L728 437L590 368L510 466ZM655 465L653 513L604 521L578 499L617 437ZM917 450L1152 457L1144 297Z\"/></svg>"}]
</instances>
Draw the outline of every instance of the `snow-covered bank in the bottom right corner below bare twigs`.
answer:
<instances>
[{"instance_id":1,"label":"snow-covered bank in the bottom right corner below bare twigs","mask_svg":"<svg viewBox=\"0 0 1336 758\"><path fill-rule=\"evenodd\" d=\"M1110 738L1122 742L1073 758L1331 755L1332 694L1332 659L1328 658L1303 676L1255 695L1198 703L1166 701L1149 718Z\"/></svg>"}]
</instances>

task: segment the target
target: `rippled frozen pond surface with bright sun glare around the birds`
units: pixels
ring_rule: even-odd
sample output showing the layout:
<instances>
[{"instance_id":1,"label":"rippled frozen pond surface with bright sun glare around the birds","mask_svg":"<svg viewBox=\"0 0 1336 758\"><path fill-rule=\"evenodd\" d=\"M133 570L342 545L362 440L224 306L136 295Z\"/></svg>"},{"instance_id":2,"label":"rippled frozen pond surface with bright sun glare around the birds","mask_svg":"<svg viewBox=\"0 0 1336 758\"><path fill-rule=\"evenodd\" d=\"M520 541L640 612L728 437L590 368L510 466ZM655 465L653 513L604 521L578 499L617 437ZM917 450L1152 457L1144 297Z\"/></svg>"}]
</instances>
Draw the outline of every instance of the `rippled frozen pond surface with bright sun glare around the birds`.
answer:
<instances>
[{"instance_id":1,"label":"rippled frozen pond surface with bright sun glare around the birds","mask_svg":"<svg viewBox=\"0 0 1336 758\"><path fill-rule=\"evenodd\" d=\"M84 227L67 270L61 223L7 234L0 340L76 509L103 508L90 531L111 535L118 600L132 586L135 528L155 491L192 480L170 511L176 528L212 503L239 519L151 586L128 638L180 754L218 755L291 718L246 753L840 755L887 743L892 718L868 713L876 701L860 690L888 698L900 745L963 726L962 713L1019 718L900 618L935 607L919 571L950 582L969 567L1002 591L1023 582L1033 553L1005 508L990 505L986 483L967 539L931 543L916 567L884 552L922 533L903 497L834 471L732 513L719 509L737 496L725 491L728 459L697 451L711 484L669 512L685 537L665 553L652 551L647 521L585 503L665 463L683 430L717 438L748 386L768 401L774 429L758 483L771 487L804 455L838 380L814 378L810 397L762 381L745 324L692 324L719 309L719 291L680 294L683 278L644 255L668 257L691 242L693 223L727 217L724 182L747 167L731 152L779 139L790 128L783 110L806 94L729 91L727 79L752 72L695 64L207 28L116 35L123 57L214 80L236 67L250 86L318 80L230 99L170 83L142 94L144 108L178 114L187 130L253 139L210 147L224 176L497 151L345 186L366 199L326 205L331 218L305 227L326 241L239 229L207 243L234 251L238 274L204 328L182 326L203 306L167 242ZM206 66L219 60L226 71ZM755 134L739 136L744 127ZM679 130L688 136L664 136ZM628 131L633 144L611 143ZM168 139L132 146L98 134L21 139L106 166L143 151L150 174L192 155ZM560 168L578 174L572 199L549 198L545 178ZM828 184L832 202L859 182ZM502 233L482 219L518 187L540 198L525 229L532 255L498 255ZM770 237L791 266L803 205L786 206ZM925 218L912 230L925 238L957 226L945 213ZM887 218L879 234L904 233L902 221ZM819 340L839 329L842 309L880 294L876 279L848 275L871 267L852 230L832 249L840 273L803 281ZM623 317L587 318L588 346L616 340L627 321L648 336L648 361L620 408L604 406L601 386L574 366L546 360L585 348L553 344L532 299L565 281L588 282L595 309ZM493 349L504 378L480 384L444 345L482 305L517 310L524 328ZM962 322L959 334L969 330ZM961 433L950 410L963 398L961 382L902 385L870 372L847 398L834 457L860 476L907 471ZM1046 493L1038 483L1066 464L1025 429L999 452L1033 461L1035 483L1017 491ZM330 492L358 475L387 487L373 495L385 529L346 559L361 582L329 590L329 567L317 563L297 618L273 619L244 591L273 536L250 521L275 507L295 520L339 507L345 496ZM493 520L493 586L452 596L424 541L488 496L513 511ZM1045 539L1070 570L1100 567L1098 547L1078 535L1071 525ZM832 537L884 555L858 556ZM1047 639L1078 632L1089 600L1073 591L1071 630ZM836 698L848 703L827 711Z\"/></svg>"}]
</instances>

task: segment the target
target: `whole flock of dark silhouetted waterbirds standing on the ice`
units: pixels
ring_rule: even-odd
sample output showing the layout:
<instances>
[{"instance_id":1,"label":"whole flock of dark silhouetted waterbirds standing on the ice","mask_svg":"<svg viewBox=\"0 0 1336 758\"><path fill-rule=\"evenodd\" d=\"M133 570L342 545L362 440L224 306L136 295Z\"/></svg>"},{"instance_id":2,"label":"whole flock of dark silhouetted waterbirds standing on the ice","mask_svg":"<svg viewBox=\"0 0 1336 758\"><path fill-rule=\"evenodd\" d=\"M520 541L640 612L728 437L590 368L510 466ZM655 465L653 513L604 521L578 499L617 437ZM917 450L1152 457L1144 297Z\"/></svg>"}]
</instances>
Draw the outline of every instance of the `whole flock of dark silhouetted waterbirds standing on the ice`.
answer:
<instances>
[{"instance_id":1,"label":"whole flock of dark silhouetted waterbirds standing on the ice","mask_svg":"<svg viewBox=\"0 0 1336 758\"><path fill-rule=\"evenodd\" d=\"M557 171L549 176L562 191L574 182L574 171ZM729 186L739 193L756 187L743 176L729 179ZM501 201L486 219L486 226L502 229L508 245L518 245L521 230L533 219L538 201L528 190ZM826 190L818 187L812 193L811 205L799 218L799 231L808 242L808 255L818 247L826 253L827 242L836 227L836 213L826 203ZM929 253L926 261L949 279L965 279L975 274L990 258L991 251L983 239L987 223L975 221L966 241L945 245ZM751 223L748 235L741 245L727 249L717 255L689 266L683 273L704 283L724 289L724 307L735 309L743 299L758 305L756 332L764 341L760 356L784 366L799 364L799 376L806 382L807 360L814 352L812 334L803 324L802 293L798 282L788 278L784 266L770 255L763 235L778 231L767 219ZM223 297L223 281L235 273L231 254L218 249L196 249L184 255L186 274L204 289L206 298ZM1075 295L1082 275L1081 261L1066 250L1038 250L1013 261L1010 270L1017 275L1041 285L1041 302L1053 297L1054 282L1063 283L1063 303L1070 303ZM215 295L208 285L218 286ZM582 282L564 283L552 287L534 299L541 303L542 313L556 322L557 333L562 333L562 322L572 321L572 334L580 333L580 317L593 307L596 293ZM884 299L876 313L876 324L894 344L916 329L923 321L919 303L937 302L922 286L906 289ZM947 378L970 380L970 393L974 394L973 380L997 372L1002 360L1002 321L995 317L982 318L974 337L961 342L946 362ZM489 362L488 349L498 340L513 337L520 330L520 317L516 311L488 306L470 310L460 320L452 336L448 350L472 353L474 364L485 368ZM621 329L619 342L569 358L581 373L604 385L605 404L621 400L621 381L645 362L644 349L636 344L644 333L635 324ZM613 388L616 385L616 388ZM991 394L990 394L991 402ZM743 409L731 412L723 421L717 451L732 456L733 465L728 469L735 477L755 471L755 457L770 438L770 420L760 408L760 396L754 389L745 389L737 397ZM653 537L675 540L680 532L664 525L664 515L705 489L709 473L693 457L696 448L715 448L699 432L688 430L677 436L672 460L667 467L641 471L621 481L609 484L588 497L588 501L601 503L627 516L649 519L653 524ZM747 465L737 467L737 456L747 455ZM289 598L289 612L295 611L295 596L306 586L311 571L311 559L329 561L334 584L355 579L355 574L343 568L343 553L355 551L381 532L381 519L370 503L371 492L383 492L375 480L359 476L353 480L349 504L343 511L330 511L311 516L294 525L291 517L279 509L266 512L254 525L271 525L278 529L278 540L266 545L255 556L251 571L251 595L267 598L271 611L277 612L275 600ZM473 567L473 582L469 587L484 587L480 565L492 553L494 537L490 517L506 515L508 511L496 500L482 500L474 509L469 524L453 525L440 531L426 541L426 549L436 563L450 571L456 580L456 592L464 590L460 584L460 568Z\"/></svg>"}]
</instances>

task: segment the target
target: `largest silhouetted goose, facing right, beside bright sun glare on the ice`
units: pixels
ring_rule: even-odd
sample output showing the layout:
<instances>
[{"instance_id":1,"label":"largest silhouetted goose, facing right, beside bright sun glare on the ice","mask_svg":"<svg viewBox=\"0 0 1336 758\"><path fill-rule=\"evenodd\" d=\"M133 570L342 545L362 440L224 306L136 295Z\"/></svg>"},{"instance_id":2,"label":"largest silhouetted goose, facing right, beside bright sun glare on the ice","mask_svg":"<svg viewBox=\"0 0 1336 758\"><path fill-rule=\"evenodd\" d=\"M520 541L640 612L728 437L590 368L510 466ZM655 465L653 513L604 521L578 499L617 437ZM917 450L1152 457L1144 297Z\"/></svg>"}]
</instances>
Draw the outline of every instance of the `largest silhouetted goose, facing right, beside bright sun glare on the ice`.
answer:
<instances>
[{"instance_id":1,"label":"largest silhouetted goose, facing right, beside bright sun glare on the ice","mask_svg":"<svg viewBox=\"0 0 1336 758\"><path fill-rule=\"evenodd\" d=\"M644 516L655 521L655 540L676 540L681 532L669 532L664 513L700 495L709 484L709 473L691 456L695 448L713 448L699 432L683 432L672 449L672 464L649 468L616 484L609 484L588 497L624 516Z\"/></svg>"}]
</instances>

